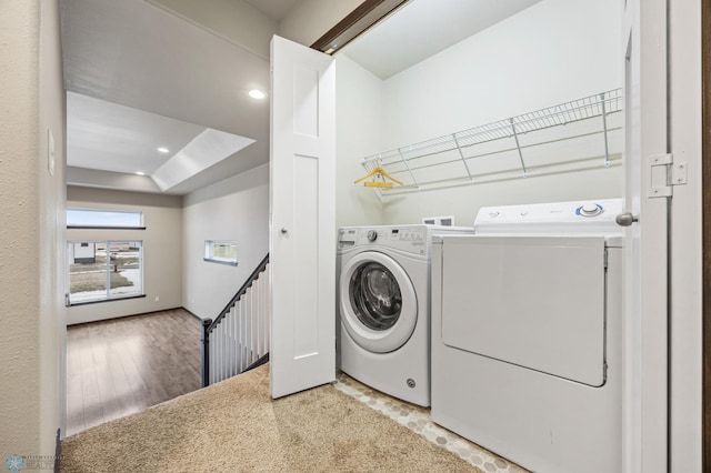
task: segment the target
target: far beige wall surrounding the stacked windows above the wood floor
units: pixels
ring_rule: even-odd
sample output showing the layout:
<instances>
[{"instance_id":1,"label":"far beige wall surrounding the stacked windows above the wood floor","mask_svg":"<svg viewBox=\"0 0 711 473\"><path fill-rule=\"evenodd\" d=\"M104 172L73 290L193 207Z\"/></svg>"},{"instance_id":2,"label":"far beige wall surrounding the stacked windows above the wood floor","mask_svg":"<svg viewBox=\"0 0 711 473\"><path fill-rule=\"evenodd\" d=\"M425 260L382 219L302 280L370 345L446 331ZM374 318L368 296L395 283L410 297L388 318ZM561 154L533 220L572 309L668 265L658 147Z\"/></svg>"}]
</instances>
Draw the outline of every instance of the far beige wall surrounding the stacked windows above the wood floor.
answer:
<instances>
[{"instance_id":1,"label":"far beige wall surrounding the stacked windows above the wood floor","mask_svg":"<svg viewBox=\"0 0 711 473\"><path fill-rule=\"evenodd\" d=\"M146 298L124 299L67 310L67 323L84 323L179 308L182 269L182 199L177 195L68 187L67 205L143 212L146 230L67 230L67 240L140 240L143 242ZM157 302L156 298L160 300Z\"/></svg>"}]
</instances>

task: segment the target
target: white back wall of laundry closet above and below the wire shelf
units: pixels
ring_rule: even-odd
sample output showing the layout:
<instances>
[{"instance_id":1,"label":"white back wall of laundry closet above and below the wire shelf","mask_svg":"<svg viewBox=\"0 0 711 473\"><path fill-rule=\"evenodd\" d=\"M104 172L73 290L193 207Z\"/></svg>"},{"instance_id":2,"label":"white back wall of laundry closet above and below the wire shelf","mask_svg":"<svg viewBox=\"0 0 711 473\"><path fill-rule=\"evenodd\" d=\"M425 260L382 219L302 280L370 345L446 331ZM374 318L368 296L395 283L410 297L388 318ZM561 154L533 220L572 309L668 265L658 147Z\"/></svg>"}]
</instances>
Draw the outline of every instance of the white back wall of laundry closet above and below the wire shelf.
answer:
<instances>
[{"instance_id":1,"label":"white back wall of laundry closet above and below the wire shelf","mask_svg":"<svg viewBox=\"0 0 711 473\"><path fill-rule=\"evenodd\" d=\"M620 34L620 0L537 3L384 81L379 151L619 88ZM385 197L383 219L472 224L481 205L621 195L622 168L601 167Z\"/></svg>"}]
</instances>

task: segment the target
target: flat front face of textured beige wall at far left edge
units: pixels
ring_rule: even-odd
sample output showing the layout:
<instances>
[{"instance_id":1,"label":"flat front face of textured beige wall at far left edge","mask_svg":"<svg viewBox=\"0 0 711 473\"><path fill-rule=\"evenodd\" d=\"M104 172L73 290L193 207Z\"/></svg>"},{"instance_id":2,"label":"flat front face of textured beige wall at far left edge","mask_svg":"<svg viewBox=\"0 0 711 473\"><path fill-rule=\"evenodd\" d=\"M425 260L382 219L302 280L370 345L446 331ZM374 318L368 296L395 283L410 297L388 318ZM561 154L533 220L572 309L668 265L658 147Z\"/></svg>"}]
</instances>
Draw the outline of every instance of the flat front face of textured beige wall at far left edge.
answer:
<instances>
[{"instance_id":1,"label":"flat front face of textured beige wall at far left edge","mask_svg":"<svg viewBox=\"0 0 711 473\"><path fill-rule=\"evenodd\" d=\"M0 2L0 459L37 454L39 2ZM4 461L4 460L3 460Z\"/></svg>"}]
</instances>

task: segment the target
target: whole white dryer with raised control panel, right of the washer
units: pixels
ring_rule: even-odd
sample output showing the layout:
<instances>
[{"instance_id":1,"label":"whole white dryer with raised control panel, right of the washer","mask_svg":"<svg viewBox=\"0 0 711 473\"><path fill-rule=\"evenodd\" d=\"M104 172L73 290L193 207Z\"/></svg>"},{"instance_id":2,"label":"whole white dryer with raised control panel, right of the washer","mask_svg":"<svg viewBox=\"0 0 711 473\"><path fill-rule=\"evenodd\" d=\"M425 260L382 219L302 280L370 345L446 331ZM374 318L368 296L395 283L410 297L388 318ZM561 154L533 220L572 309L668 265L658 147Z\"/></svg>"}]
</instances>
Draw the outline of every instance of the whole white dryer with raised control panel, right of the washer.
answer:
<instances>
[{"instance_id":1,"label":"whole white dryer with raised control panel, right of the washer","mask_svg":"<svg viewBox=\"0 0 711 473\"><path fill-rule=\"evenodd\" d=\"M621 212L483 208L434 239L434 422L532 471L623 470Z\"/></svg>"}]
</instances>

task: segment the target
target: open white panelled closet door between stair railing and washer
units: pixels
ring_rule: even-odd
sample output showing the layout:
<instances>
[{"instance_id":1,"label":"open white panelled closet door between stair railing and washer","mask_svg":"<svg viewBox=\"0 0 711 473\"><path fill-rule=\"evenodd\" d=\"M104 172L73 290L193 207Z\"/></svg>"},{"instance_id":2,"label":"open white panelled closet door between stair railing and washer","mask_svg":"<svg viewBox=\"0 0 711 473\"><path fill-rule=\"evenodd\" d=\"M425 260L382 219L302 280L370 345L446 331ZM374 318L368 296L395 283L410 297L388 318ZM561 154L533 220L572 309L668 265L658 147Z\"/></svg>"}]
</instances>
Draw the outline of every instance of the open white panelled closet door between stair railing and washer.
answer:
<instances>
[{"instance_id":1,"label":"open white panelled closet door between stair railing and washer","mask_svg":"<svg viewBox=\"0 0 711 473\"><path fill-rule=\"evenodd\" d=\"M271 395L336 376L333 59L271 43Z\"/></svg>"}]
</instances>

